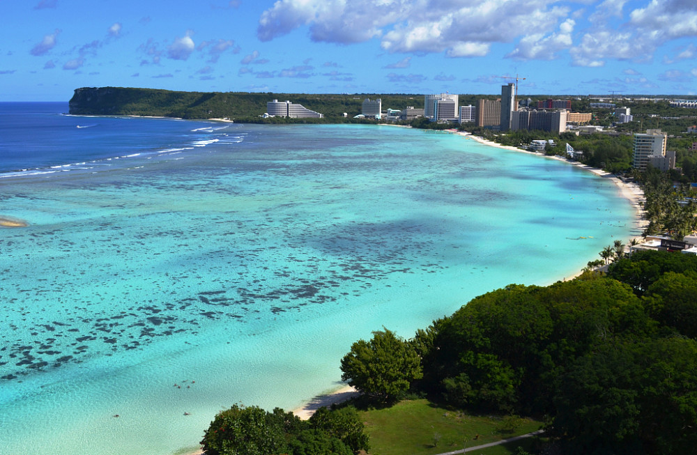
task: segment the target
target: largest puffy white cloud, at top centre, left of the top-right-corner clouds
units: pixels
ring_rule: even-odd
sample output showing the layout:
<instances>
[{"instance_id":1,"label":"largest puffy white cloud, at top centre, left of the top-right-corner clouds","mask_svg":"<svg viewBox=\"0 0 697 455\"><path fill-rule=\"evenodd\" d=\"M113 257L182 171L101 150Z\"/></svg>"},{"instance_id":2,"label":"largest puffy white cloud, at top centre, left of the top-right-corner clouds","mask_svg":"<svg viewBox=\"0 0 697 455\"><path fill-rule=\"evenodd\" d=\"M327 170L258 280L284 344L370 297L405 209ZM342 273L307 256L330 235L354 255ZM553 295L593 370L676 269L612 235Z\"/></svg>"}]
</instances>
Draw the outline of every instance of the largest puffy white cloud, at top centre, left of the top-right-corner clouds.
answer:
<instances>
[{"instance_id":1,"label":"largest puffy white cloud, at top centre, left of the top-right-corner clouds","mask_svg":"<svg viewBox=\"0 0 697 455\"><path fill-rule=\"evenodd\" d=\"M482 56L491 43L549 33L569 8L553 0L279 0L264 11L257 35L267 41L300 26L310 38L358 43L379 38L390 52Z\"/></svg>"}]
</instances>

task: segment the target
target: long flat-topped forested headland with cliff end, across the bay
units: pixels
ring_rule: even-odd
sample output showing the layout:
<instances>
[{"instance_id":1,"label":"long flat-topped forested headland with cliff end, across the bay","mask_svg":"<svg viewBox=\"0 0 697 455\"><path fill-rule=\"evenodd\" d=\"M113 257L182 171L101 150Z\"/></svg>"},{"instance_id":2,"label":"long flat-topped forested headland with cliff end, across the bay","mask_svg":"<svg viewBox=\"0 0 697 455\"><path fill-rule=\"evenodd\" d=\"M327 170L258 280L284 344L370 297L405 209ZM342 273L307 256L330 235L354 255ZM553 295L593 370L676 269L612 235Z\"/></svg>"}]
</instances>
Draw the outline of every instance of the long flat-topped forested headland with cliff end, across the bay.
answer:
<instances>
[{"instance_id":1,"label":"long flat-topped forested headland with cliff end, across the bay","mask_svg":"<svg viewBox=\"0 0 697 455\"><path fill-rule=\"evenodd\" d=\"M383 106L423 107L423 95L332 95L306 93L181 92L156 88L82 87L70 99L70 114L134 115L178 118L258 118L266 102L291 100L327 118L360 114L365 98L382 98Z\"/></svg>"}]
</instances>

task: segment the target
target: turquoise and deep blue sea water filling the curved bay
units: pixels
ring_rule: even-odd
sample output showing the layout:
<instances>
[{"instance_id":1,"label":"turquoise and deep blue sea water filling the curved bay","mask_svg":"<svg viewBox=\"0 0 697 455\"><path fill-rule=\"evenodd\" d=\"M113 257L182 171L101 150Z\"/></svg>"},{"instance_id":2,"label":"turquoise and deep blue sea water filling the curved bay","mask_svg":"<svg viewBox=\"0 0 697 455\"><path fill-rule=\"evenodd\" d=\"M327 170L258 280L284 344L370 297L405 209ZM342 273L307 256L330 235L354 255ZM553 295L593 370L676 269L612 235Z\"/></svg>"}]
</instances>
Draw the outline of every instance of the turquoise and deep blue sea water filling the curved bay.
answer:
<instances>
[{"instance_id":1,"label":"turquoise and deep blue sea water filling the curved bay","mask_svg":"<svg viewBox=\"0 0 697 455\"><path fill-rule=\"evenodd\" d=\"M373 330L635 233L610 181L457 134L67 111L0 103L3 455L190 452L340 387Z\"/></svg>"}]
</instances>

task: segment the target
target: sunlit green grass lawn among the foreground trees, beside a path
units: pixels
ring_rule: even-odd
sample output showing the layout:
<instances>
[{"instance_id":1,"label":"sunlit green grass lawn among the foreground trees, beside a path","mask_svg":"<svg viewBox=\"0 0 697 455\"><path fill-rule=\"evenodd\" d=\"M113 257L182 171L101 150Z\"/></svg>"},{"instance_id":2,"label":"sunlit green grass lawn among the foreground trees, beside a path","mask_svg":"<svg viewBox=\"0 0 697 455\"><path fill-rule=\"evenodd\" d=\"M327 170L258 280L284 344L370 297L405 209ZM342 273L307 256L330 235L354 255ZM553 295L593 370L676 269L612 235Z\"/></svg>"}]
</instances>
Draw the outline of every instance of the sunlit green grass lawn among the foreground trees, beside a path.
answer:
<instances>
[{"instance_id":1,"label":"sunlit green grass lawn among the foreground trees, beside a path","mask_svg":"<svg viewBox=\"0 0 697 455\"><path fill-rule=\"evenodd\" d=\"M446 410L428 400L401 401L386 409L360 411L370 435L371 455L434 455L487 444L539 430L542 422L500 416L474 416ZM511 426L515 426L511 430ZM437 440L437 442L436 442ZM515 453L523 440L473 453L506 455Z\"/></svg>"}]
</instances>

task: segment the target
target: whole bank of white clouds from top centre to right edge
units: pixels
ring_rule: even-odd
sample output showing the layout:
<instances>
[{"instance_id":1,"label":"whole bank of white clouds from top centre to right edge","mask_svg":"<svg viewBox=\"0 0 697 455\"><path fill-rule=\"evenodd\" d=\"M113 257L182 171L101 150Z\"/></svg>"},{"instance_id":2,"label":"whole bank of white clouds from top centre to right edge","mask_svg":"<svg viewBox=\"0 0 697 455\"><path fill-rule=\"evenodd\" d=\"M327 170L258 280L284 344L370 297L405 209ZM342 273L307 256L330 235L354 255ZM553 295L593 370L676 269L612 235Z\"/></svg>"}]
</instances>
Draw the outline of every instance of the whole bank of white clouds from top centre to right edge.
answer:
<instances>
[{"instance_id":1,"label":"whole bank of white clouds from top centre to right edge","mask_svg":"<svg viewBox=\"0 0 697 455\"><path fill-rule=\"evenodd\" d=\"M694 0L277 0L261 14L257 36L268 41L300 27L314 41L377 38L388 52L450 57L485 56L517 41L507 56L549 60L568 51L574 65L602 66L650 61L667 41L697 36L697 8Z\"/></svg>"}]
</instances>

